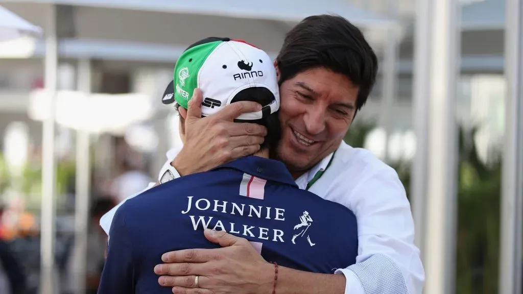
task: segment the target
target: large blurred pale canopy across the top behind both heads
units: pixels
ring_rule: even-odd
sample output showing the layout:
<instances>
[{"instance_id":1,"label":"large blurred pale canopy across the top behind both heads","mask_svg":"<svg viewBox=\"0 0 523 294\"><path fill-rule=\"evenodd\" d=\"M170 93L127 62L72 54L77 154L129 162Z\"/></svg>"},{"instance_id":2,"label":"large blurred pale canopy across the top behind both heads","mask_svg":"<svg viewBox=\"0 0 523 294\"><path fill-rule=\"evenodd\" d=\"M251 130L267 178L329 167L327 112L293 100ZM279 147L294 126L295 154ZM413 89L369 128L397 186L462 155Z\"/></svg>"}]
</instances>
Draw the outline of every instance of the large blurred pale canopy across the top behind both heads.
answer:
<instances>
[{"instance_id":1,"label":"large blurred pale canopy across the top behind both heads","mask_svg":"<svg viewBox=\"0 0 523 294\"><path fill-rule=\"evenodd\" d=\"M298 0L264 2L211 0L19 0L5 5L45 29L52 4L71 5L69 17L59 17L59 55L66 58L174 62L195 40L209 36L249 40L275 57L283 36L306 16L336 13L360 27L393 24L387 18L357 8L345 0L303 5ZM96 21L94 21L96 20ZM45 54L37 42L34 54Z\"/></svg>"}]
</instances>

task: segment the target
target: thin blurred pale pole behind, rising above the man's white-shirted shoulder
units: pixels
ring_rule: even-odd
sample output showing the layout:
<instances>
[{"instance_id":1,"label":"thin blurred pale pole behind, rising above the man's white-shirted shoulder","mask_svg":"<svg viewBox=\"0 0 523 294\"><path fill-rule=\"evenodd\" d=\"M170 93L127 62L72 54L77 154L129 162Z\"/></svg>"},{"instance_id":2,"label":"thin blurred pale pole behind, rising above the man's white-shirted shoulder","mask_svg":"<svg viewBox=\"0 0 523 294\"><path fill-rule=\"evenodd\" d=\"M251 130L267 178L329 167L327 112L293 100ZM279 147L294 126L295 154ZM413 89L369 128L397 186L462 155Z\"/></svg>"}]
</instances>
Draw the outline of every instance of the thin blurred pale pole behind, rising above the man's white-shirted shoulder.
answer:
<instances>
[{"instance_id":1,"label":"thin blurred pale pole behind, rising above the man's white-shirted shoulder","mask_svg":"<svg viewBox=\"0 0 523 294\"><path fill-rule=\"evenodd\" d=\"M393 20L397 19L397 0L387 0L388 2L388 15ZM398 28L396 25L391 25L386 30L386 44L385 54L383 57L383 91L381 97L381 126L385 130L385 152L383 155L383 161L389 161L389 142L390 135L392 132L391 123L391 111L394 104L394 97L396 96L396 84L397 84L397 47L398 47Z\"/></svg>"}]
</instances>

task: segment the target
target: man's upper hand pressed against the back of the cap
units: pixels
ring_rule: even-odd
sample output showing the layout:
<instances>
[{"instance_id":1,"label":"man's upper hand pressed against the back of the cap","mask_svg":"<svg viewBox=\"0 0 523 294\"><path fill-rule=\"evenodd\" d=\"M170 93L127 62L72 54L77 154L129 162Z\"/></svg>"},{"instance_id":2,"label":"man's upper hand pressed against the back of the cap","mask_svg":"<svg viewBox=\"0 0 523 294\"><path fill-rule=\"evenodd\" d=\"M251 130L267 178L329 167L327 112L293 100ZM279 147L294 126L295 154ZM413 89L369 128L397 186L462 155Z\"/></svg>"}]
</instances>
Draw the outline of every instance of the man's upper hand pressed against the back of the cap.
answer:
<instances>
[{"instance_id":1,"label":"man's upper hand pressed against the back of the cap","mask_svg":"<svg viewBox=\"0 0 523 294\"><path fill-rule=\"evenodd\" d=\"M180 175L204 172L251 155L260 149L267 129L256 123L233 122L242 114L261 110L252 101L238 101L209 117L201 117L202 94L195 89L187 108L184 147L173 160Z\"/></svg>"}]
</instances>

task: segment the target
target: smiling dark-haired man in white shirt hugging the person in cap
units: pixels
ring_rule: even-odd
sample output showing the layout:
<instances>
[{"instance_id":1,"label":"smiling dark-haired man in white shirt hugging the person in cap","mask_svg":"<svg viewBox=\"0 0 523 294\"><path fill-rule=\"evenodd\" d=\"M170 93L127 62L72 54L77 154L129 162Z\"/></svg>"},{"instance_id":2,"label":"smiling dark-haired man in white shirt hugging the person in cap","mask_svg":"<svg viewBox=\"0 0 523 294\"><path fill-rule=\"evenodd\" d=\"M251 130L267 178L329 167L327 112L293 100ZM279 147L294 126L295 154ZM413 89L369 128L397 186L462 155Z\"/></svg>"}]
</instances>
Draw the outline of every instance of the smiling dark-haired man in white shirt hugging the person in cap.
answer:
<instances>
[{"instance_id":1,"label":"smiling dark-haired man in white shirt hugging the person in cap","mask_svg":"<svg viewBox=\"0 0 523 294\"><path fill-rule=\"evenodd\" d=\"M396 172L368 151L343 142L376 79L377 58L369 44L344 18L312 16L288 33L275 67L282 125L276 157L301 189L354 211L357 263L333 269L336 275L285 267L275 273L254 262L254 248L245 246L241 238L218 232L206 236L224 248L164 254L166 264L155 268L156 274L164 275L160 284L174 287L176 293L197 293L190 284L194 281L185 276L199 275L210 282L198 293L209 294L263 294L269 286L274 286L273 293L421 293L423 266L413 244L410 205ZM233 104L201 118L203 97L195 93L185 121L185 144L179 152L167 154L161 183L252 154L263 141L265 130L233 122L242 113L259 110L256 106ZM197 131L202 129L206 132ZM107 223L101 221L103 227Z\"/></svg>"}]
</instances>

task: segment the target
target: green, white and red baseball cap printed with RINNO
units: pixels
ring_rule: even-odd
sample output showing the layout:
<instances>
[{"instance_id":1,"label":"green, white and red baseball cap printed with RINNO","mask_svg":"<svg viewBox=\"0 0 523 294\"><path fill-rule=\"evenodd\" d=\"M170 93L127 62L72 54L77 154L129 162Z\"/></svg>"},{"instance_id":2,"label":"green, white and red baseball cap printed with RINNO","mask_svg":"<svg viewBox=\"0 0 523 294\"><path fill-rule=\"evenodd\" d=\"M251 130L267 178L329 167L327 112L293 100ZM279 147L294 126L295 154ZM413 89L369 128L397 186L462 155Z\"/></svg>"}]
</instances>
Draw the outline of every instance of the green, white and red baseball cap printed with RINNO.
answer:
<instances>
[{"instance_id":1,"label":"green, white and red baseball cap printed with RINNO","mask_svg":"<svg viewBox=\"0 0 523 294\"><path fill-rule=\"evenodd\" d=\"M252 93L258 88L270 93L274 99L262 105L262 110L243 114L237 119L258 120L280 107L272 60L265 51L243 40L211 37L189 46L176 62L174 80L167 86L162 103L187 108L195 88L199 88L203 95L202 116L215 114L247 89Z\"/></svg>"}]
</instances>

